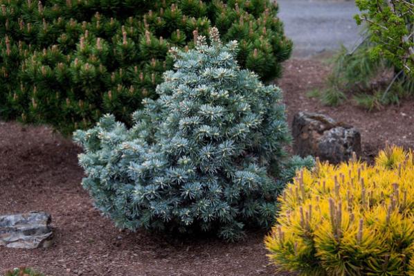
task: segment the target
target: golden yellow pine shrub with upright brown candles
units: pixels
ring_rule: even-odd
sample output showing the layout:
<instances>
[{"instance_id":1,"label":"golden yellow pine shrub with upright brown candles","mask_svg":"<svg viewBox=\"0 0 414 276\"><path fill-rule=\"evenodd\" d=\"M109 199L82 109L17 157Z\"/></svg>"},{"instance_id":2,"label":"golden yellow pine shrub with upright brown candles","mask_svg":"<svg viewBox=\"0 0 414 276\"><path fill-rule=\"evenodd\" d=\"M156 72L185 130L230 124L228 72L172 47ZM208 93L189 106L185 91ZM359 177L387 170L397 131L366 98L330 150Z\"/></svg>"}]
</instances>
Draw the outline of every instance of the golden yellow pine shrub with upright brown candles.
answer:
<instances>
[{"instance_id":1,"label":"golden yellow pine shrub with upright brown candles","mask_svg":"<svg viewBox=\"0 0 414 276\"><path fill-rule=\"evenodd\" d=\"M414 160L386 147L375 165L356 158L298 172L265 238L279 270L299 275L414 275Z\"/></svg>"}]
</instances>

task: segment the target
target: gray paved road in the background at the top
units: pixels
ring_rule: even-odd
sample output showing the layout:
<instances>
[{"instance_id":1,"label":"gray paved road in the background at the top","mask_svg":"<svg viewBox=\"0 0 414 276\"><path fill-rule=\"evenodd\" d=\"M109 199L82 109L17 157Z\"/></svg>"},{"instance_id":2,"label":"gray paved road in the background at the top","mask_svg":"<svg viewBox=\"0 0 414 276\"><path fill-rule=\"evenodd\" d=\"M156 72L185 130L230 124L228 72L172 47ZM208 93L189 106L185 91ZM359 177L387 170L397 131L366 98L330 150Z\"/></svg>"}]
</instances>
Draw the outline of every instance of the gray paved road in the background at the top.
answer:
<instances>
[{"instance_id":1,"label":"gray paved road in the background at the top","mask_svg":"<svg viewBox=\"0 0 414 276\"><path fill-rule=\"evenodd\" d=\"M354 1L277 0L285 33L294 41L294 56L332 51L341 44L352 48L359 39L360 27L353 16Z\"/></svg>"}]
</instances>

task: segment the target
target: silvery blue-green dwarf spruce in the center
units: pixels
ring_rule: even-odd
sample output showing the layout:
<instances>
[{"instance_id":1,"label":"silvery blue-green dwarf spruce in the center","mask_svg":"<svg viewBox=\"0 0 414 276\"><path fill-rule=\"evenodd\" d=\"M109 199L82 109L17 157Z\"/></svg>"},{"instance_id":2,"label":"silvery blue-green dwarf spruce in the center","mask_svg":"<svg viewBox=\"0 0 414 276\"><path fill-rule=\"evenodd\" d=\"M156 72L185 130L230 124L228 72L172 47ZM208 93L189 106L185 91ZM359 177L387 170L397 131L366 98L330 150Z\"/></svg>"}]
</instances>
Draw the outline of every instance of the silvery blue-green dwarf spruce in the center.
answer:
<instances>
[{"instance_id":1,"label":"silvery blue-green dwarf spruce in the center","mask_svg":"<svg viewBox=\"0 0 414 276\"><path fill-rule=\"evenodd\" d=\"M275 219L286 172L294 173L282 162L289 130L280 89L240 69L237 42L223 46L216 28L211 46L205 39L188 52L172 48L174 71L132 128L107 115L74 134L84 148L82 185L120 228L235 240L244 226ZM312 159L289 162L304 164Z\"/></svg>"}]
</instances>

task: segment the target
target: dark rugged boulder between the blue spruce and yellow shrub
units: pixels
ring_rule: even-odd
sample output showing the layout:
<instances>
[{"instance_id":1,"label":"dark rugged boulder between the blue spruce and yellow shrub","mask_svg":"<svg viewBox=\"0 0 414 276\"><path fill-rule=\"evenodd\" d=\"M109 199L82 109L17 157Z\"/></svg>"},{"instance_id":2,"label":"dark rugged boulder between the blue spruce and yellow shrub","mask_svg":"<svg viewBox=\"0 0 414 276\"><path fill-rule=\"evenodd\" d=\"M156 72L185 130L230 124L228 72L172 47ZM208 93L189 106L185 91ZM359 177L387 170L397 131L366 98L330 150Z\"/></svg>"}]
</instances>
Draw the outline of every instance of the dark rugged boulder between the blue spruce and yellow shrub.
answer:
<instances>
[{"instance_id":1,"label":"dark rugged boulder between the blue spruce and yellow shrub","mask_svg":"<svg viewBox=\"0 0 414 276\"><path fill-rule=\"evenodd\" d=\"M358 129L336 122L319 113L299 112L292 123L294 153L318 156L330 163L341 163L361 154L361 134Z\"/></svg>"}]
</instances>

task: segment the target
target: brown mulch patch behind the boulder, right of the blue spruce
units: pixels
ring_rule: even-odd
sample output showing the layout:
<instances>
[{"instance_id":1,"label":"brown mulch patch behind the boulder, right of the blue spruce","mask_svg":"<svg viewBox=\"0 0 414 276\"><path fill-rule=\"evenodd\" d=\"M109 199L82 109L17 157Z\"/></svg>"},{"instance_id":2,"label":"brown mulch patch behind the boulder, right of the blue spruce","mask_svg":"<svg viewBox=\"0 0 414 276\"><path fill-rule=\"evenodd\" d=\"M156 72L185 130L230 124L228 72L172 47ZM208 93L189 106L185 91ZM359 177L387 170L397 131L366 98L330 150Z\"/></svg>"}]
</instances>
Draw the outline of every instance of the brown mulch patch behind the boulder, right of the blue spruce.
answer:
<instances>
[{"instance_id":1,"label":"brown mulch patch behind the boulder, right of the blue spruce","mask_svg":"<svg viewBox=\"0 0 414 276\"><path fill-rule=\"evenodd\" d=\"M324 113L338 122L353 125L361 131L361 158L368 161L372 161L387 142L414 149L414 99L370 112L357 107L351 100L339 107L327 107L318 99L308 98L307 92L323 88L329 72L330 67L318 59L291 59L285 64L285 75L279 85L284 92L289 123L298 111L309 111Z\"/></svg>"}]
</instances>

